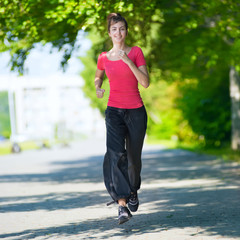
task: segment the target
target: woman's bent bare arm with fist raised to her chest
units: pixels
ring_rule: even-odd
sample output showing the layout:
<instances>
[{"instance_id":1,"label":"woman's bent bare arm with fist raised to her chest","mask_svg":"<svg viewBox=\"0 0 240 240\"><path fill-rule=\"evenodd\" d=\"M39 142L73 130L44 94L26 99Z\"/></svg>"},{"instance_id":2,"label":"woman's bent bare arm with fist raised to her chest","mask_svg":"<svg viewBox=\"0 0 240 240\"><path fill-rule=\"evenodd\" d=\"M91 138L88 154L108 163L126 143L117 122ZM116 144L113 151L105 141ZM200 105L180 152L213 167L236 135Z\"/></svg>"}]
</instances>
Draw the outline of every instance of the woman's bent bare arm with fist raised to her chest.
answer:
<instances>
[{"instance_id":1,"label":"woman's bent bare arm with fist raised to her chest","mask_svg":"<svg viewBox=\"0 0 240 240\"><path fill-rule=\"evenodd\" d=\"M123 50L119 51L119 57L129 66L138 82L145 88L149 87L147 67L145 65L137 67Z\"/></svg>"}]
</instances>

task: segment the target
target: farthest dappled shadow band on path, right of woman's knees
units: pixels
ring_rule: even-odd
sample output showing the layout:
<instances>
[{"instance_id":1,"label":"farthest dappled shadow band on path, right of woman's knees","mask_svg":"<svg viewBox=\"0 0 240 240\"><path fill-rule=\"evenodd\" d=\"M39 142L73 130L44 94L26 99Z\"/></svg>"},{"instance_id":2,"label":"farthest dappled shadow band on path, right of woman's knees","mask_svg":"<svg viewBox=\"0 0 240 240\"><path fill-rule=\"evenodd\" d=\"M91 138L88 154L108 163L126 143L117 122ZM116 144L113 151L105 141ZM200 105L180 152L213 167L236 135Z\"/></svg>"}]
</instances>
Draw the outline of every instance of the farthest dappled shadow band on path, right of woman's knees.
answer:
<instances>
[{"instance_id":1,"label":"farthest dappled shadow band on path, right of woman's knees","mask_svg":"<svg viewBox=\"0 0 240 240\"><path fill-rule=\"evenodd\" d=\"M145 151L142 179L221 179L226 184L239 183L240 165L227 164L215 156L195 154L179 149Z\"/></svg>"}]
</instances>

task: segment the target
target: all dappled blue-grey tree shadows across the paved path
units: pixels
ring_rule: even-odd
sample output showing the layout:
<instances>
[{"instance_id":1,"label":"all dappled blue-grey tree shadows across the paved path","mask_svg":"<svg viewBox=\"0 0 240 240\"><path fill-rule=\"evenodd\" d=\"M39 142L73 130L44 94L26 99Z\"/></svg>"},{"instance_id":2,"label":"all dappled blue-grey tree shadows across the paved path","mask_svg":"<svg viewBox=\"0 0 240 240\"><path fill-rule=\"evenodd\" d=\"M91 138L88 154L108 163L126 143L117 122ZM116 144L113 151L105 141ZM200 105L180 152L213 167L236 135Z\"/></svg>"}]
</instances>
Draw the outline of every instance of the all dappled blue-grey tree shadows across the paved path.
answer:
<instances>
[{"instance_id":1,"label":"all dappled blue-grey tree shadows across the paved path","mask_svg":"<svg viewBox=\"0 0 240 240\"><path fill-rule=\"evenodd\" d=\"M53 161L59 170L44 174L0 176L2 182L102 182L103 156L69 161ZM224 163L214 156L194 154L182 150L146 150L143 152L142 190L140 210L131 221L118 226L116 216L81 220L63 226L0 234L0 238L34 239L51 236L88 236L87 239L140 236L144 233L167 231L174 228L198 227L195 235L240 237L240 166ZM181 181L199 180L197 185L178 185ZM211 180L216 180L216 184ZM173 184L168 185L167 183ZM201 184L201 182L203 184ZM207 184L209 182L209 184ZM155 185L152 183L156 183ZM160 185L160 183L162 183ZM158 186L159 184L159 186ZM164 185L165 184L165 185ZM214 185L215 184L215 185ZM34 202L28 203L29 199ZM35 196L5 197L0 212L20 212L75 209L95 206L109 200L106 191L50 193ZM26 200L26 202L25 202ZM21 201L13 203L12 201ZM10 202L10 204L7 204ZM106 208L106 211L108 209ZM109 231L114 230L114 231ZM98 235L101 233L100 235ZM49 237L48 237L49 236ZM194 236L194 235L193 235Z\"/></svg>"}]
</instances>

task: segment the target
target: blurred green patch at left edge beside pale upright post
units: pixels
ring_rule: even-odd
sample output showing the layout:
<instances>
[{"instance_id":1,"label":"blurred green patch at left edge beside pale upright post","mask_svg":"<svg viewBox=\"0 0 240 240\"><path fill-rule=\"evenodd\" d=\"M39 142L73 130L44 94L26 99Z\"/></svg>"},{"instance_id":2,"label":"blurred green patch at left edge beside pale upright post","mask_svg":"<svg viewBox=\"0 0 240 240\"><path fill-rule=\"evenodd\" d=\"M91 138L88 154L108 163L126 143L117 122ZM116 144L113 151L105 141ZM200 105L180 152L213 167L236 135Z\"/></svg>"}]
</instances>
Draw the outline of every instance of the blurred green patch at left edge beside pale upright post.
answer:
<instances>
[{"instance_id":1,"label":"blurred green patch at left edge beside pale upright post","mask_svg":"<svg viewBox=\"0 0 240 240\"><path fill-rule=\"evenodd\" d=\"M0 135L9 138L11 134L7 92L0 92Z\"/></svg>"}]
</instances>

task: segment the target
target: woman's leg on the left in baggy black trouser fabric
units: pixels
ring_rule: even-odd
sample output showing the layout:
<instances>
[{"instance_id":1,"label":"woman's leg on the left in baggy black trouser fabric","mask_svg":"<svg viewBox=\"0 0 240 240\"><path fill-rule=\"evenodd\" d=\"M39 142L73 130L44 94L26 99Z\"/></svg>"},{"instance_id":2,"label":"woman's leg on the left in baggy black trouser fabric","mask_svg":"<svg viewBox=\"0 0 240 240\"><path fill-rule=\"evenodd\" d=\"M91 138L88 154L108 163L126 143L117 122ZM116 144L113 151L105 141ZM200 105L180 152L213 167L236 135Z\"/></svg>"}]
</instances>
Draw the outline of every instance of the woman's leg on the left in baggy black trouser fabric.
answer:
<instances>
[{"instance_id":1,"label":"woman's leg on the left in baggy black trouser fabric","mask_svg":"<svg viewBox=\"0 0 240 240\"><path fill-rule=\"evenodd\" d=\"M106 110L107 152L103 163L105 186L113 200L120 200L119 203L122 205L131 194L125 150L127 127L124 116L123 109L108 107Z\"/></svg>"}]
</instances>

